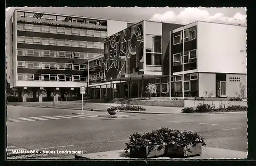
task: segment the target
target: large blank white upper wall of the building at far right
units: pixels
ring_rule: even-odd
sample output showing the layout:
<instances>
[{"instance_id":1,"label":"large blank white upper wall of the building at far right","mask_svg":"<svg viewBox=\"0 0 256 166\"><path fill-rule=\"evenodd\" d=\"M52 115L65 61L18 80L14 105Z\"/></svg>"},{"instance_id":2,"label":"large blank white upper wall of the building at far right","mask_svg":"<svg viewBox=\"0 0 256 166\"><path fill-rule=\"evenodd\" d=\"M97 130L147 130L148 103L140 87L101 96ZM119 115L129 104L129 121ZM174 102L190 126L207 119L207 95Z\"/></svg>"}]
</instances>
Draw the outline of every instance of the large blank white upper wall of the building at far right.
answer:
<instances>
[{"instance_id":1,"label":"large blank white upper wall of the building at far right","mask_svg":"<svg viewBox=\"0 0 256 166\"><path fill-rule=\"evenodd\" d=\"M246 27L198 22L199 72L246 74Z\"/></svg>"}]
</instances>

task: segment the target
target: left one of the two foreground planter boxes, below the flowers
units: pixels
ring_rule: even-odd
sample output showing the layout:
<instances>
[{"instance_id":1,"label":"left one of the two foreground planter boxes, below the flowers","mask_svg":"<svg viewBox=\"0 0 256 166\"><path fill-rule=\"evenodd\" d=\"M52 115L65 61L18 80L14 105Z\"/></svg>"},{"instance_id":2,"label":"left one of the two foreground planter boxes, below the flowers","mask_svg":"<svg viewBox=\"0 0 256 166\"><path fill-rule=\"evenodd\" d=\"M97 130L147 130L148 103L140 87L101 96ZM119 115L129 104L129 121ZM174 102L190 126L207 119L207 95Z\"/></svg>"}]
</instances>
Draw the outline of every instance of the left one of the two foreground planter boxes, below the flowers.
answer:
<instances>
[{"instance_id":1,"label":"left one of the two foreground planter boxes, below the flowers","mask_svg":"<svg viewBox=\"0 0 256 166\"><path fill-rule=\"evenodd\" d=\"M159 147L160 145L155 146L154 149L150 151L149 154L148 154L148 147L143 147L140 150L130 149L130 157L131 158L150 158L150 157L162 156L164 155L165 148L163 146L161 150L158 150Z\"/></svg>"}]
</instances>

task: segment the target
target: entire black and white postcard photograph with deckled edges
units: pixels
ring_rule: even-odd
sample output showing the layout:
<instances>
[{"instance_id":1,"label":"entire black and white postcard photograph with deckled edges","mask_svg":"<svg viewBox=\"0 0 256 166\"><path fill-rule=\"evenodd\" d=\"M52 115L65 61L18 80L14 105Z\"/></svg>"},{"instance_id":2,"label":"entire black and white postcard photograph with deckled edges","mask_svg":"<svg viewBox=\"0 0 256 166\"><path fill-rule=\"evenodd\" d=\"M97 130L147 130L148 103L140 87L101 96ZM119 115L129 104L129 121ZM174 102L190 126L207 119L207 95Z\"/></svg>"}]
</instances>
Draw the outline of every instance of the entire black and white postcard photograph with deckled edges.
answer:
<instances>
[{"instance_id":1,"label":"entire black and white postcard photograph with deckled edges","mask_svg":"<svg viewBox=\"0 0 256 166\"><path fill-rule=\"evenodd\" d=\"M246 8L6 8L6 159L246 159Z\"/></svg>"}]
</instances>

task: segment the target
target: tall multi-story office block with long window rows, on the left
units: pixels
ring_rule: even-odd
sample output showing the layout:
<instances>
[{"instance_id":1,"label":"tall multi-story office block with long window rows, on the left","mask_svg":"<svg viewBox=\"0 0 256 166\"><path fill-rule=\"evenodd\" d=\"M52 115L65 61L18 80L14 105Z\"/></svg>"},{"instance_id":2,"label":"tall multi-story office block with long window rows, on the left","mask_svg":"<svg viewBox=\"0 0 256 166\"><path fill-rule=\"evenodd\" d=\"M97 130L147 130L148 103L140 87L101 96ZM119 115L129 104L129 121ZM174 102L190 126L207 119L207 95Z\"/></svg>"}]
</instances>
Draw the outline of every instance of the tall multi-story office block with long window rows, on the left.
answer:
<instances>
[{"instance_id":1,"label":"tall multi-story office block with long window rows, on the left","mask_svg":"<svg viewBox=\"0 0 256 166\"><path fill-rule=\"evenodd\" d=\"M132 23L15 10L10 19L10 53L7 54L10 86L19 91L19 101L42 101L42 92L54 100L60 94L79 93L88 86L88 61L103 56L103 39ZM102 64L102 61L99 62ZM99 64L98 61L96 65ZM98 71L97 68L94 68ZM96 79L97 80L97 79Z\"/></svg>"}]
</instances>

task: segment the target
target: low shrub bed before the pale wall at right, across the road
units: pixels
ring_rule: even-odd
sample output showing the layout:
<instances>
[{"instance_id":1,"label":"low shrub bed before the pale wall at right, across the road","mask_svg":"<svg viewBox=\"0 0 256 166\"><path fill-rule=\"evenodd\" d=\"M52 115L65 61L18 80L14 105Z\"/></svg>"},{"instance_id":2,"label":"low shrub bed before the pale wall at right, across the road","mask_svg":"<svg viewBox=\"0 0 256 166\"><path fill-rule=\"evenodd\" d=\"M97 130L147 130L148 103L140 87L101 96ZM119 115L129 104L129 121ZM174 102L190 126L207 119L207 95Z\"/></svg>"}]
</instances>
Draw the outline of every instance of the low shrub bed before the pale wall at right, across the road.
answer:
<instances>
[{"instance_id":1,"label":"low shrub bed before the pale wall at right, across the road","mask_svg":"<svg viewBox=\"0 0 256 166\"><path fill-rule=\"evenodd\" d=\"M231 105L215 107L209 104L199 104L197 107L185 107L182 113L221 113L221 112L247 112L247 106Z\"/></svg>"}]
</instances>

